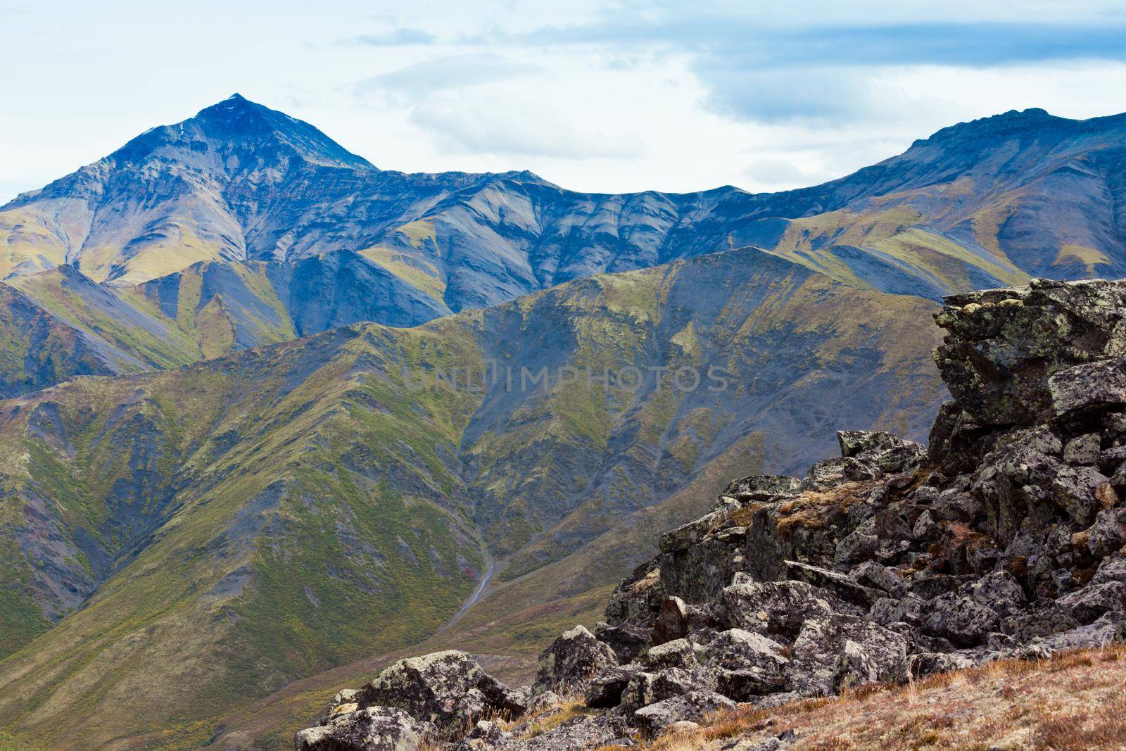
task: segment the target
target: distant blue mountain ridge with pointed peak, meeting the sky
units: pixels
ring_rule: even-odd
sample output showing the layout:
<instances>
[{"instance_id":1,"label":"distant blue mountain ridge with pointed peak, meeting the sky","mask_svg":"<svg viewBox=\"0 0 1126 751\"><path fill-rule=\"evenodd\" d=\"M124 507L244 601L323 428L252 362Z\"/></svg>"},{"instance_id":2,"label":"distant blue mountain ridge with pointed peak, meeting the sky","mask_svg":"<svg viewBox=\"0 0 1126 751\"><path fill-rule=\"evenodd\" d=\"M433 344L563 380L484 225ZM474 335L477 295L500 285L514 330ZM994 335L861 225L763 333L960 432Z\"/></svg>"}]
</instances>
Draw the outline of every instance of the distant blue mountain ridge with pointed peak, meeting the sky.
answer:
<instances>
[{"instance_id":1,"label":"distant blue mountain ridge with pointed peak, meeting the sky","mask_svg":"<svg viewBox=\"0 0 1126 751\"><path fill-rule=\"evenodd\" d=\"M21 279L20 304L77 329L93 373L361 320L417 325L579 277L744 247L937 301L1029 276L1126 274L1124 135L1126 117L1012 111L813 188L602 195L529 172L379 170L235 95L0 207L0 276ZM37 279L64 265L120 301L104 304L155 316L150 329L171 321L155 336L176 356L153 360L137 342L123 359L119 342L96 341L102 327L59 311L59 281ZM7 393L53 382L42 368L9 369Z\"/></svg>"}]
</instances>

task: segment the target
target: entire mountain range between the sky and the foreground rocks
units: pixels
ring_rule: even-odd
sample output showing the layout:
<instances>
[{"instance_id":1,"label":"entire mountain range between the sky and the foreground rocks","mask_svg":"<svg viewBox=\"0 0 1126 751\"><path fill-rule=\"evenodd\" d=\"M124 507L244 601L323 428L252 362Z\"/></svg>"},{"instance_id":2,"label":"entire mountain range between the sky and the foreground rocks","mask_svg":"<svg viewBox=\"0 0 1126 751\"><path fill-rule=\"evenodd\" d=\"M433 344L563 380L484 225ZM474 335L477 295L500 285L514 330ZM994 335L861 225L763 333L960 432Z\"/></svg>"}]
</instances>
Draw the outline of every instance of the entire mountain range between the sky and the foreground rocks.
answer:
<instances>
[{"instance_id":1,"label":"entire mountain range between the sky and the foreground rocks","mask_svg":"<svg viewBox=\"0 0 1126 751\"><path fill-rule=\"evenodd\" d=\"M19 196L0 725L284 748L323 671L526 670L730 475L922 438L944 294L1126 275L1124 136L1026 110L813 188L614 196L378 170L236 95Z\"/></svg>"}]
</instances>

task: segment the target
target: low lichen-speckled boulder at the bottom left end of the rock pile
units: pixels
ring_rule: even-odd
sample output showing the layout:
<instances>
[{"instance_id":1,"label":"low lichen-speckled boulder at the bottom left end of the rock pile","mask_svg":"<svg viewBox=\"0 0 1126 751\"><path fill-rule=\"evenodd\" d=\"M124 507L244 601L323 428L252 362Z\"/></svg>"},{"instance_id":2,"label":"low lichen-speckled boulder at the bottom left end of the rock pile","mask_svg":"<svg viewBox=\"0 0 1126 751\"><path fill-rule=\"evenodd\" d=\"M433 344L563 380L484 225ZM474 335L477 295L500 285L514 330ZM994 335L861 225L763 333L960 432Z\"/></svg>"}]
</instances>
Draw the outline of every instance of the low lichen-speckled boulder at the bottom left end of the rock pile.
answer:
<instances>
[{"instance_id":1,"label":"low lichen-speckled boulder at the bottom left end of the rock pile","mask_svg":"<svg viewBox=\"0 0 1126 751\"><path fill-rule=\"evenodd\" d=\"M394 707L337 714L297 733L296 751L414 751L435 743L438 732Z\"/></svg>"}]
</instances>

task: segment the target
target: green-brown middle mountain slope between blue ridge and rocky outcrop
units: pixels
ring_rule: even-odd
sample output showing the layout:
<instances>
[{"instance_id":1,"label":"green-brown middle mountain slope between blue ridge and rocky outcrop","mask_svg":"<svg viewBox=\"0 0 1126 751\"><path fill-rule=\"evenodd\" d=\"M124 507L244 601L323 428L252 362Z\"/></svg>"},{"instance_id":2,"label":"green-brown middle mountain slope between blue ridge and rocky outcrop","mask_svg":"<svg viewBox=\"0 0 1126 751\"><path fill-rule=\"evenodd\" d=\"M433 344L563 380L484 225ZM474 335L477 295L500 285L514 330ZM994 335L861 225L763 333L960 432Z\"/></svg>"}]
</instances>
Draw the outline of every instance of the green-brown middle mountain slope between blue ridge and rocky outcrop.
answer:
<instances>
[{"instance_id":1,"label":"green-brown middle mountain slope between blue ridge and rocky outcrop","mask_svg":"<svg viewBox=\"0 0 1126 751\"><path fill-rule=\"evenodd\" d=\"M595 618L649 540L732 476L820 458L846 419L924 422L909 415L941 394L932 307L743 251L419 329L349 327L8 402L0 471L19 502L5 504L7 529L28 503L63 501L51 515L64 544L24 573L96 580L80 527L122 567L0 663L0 722L48 745L198 744L243 722L231 709L248 699L434 633L483 565L477 527L519 555L427 646L489 651L517 676L562 627ZM403 365L480 369L506 355L517 367L545 355L718 361L734 387L670 401L667 390L587 396L557 382L516 395L406 393L402 381ZM510 431L522 438L494 438ZM587 475L545 499L553 472ZM152 500L163 488L175 492ZM568 549L578 553L551 563ZM278 721L276 706L261 716ZM260 732L288 743L285 723Z\"/></svg>"}]
</instances>

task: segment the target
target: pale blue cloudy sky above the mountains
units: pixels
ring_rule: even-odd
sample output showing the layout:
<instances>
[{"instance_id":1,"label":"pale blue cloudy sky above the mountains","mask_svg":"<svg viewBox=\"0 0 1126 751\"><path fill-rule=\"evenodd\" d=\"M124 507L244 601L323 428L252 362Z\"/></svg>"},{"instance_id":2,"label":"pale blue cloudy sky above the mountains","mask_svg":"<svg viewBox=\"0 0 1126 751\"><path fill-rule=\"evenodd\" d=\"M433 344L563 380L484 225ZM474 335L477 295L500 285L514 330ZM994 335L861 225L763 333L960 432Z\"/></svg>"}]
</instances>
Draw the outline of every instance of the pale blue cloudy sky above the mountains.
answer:
<instances>
[{"instance_id":1,"label":"pale blue cloudy sky above the mountains","mask_svg":"<svg viewBox=\"0 0 1126 751\"><path fill-rule=\"evenodd\" d=\"M1126 5L0 0L0 202L239 92L383 169L783 190L957 122L1126 111Z\"/></svg>"}]
</instances>

